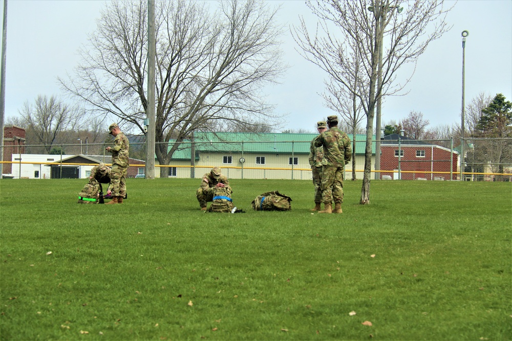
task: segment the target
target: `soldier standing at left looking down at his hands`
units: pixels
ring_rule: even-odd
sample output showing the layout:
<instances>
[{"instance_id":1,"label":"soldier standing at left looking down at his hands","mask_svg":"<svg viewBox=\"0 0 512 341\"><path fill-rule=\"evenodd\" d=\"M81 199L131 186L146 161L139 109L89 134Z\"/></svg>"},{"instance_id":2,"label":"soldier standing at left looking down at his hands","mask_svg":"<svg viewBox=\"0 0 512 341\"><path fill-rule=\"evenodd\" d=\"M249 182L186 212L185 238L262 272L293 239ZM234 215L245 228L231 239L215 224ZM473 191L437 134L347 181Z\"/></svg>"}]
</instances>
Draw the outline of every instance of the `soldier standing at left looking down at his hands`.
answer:
<instances>
[{"instance_id":1,"label":"soldier standing at left looking down at his hands","mask_svg":"<svg viewBox=\"0 0 512 341\"><path fill-rule=\"evenodd\" d=\"M126 195L126 172L129 166L130 143L116 123L109 126L110 134L115 137L114 146L106 147L112 153L112 170L110 171L110 190L112 200L106 204L122 203Z\"/></svg>"}]
</instances>

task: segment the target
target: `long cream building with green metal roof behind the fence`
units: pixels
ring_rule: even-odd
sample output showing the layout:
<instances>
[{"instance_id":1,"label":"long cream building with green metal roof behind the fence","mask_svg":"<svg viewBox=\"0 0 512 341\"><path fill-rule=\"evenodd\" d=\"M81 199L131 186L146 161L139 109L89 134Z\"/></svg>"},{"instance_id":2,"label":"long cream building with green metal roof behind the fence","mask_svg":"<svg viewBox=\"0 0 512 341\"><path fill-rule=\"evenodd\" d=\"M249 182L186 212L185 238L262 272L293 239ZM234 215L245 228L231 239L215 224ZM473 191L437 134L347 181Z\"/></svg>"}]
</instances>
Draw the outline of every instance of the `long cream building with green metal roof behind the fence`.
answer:
<instances>
[{"instance_id":1,"label":"long cream building with green metal roof behind the fence","mask_svg":"<svg viewBox=\"0 0 512 341\"><path fill-rule=\"evenodd\" d=\"M168 165L168 174L170 177L199 178L212 167L219 166L230 178L311 179L308 157L311 141L317 135L196 133L192 141L183 142L175 151ZM352 134L349 134L349 137L352 141ZM169 142L169 150L174 142ZM363 176L365 148L366 134L356 134L357 178ZM372 144L372 155L375 155L375 144ZM346 166L346 172L351 171L352 164L349 164Z\"/></svg>"}]
</instances>

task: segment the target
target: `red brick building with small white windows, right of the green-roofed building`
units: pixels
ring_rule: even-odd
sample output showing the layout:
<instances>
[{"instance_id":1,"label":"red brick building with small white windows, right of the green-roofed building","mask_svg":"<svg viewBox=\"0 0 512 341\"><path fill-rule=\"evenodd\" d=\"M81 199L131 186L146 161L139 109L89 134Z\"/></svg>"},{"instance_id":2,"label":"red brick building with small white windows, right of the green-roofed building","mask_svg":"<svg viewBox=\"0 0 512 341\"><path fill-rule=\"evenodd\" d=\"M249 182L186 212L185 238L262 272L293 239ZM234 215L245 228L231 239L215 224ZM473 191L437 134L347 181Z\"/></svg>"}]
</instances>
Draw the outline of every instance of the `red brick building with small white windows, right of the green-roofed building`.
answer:
<instances>
[{"instance_id":1,"label":"red brick building with small white windows, right of the green-roofed building","mask_svg":"<svg viewBox=\"0 0 512 341\"><path fill-rule=\"evenodd\" d=\"M450 180L452 170L452 180L457 179L459 155L456 151L398 134L386 135L381 141L380 150L381 178Z\"/></svg>"}]
</instances>

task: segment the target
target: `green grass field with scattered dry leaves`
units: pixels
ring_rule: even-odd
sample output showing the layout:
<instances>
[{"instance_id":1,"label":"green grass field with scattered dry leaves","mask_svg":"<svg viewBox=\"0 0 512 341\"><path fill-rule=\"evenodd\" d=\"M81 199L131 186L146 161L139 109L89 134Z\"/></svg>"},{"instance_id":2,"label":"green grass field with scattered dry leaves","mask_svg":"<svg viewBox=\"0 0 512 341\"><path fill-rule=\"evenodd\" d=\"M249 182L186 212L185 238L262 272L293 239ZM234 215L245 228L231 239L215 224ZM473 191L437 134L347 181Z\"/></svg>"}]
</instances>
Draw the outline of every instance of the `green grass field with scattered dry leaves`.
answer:
<instances>
[{"instance_id":1,"label":"green grass field with scattered dry leaves","mask_svg":"<svg viewBox=\"0 0 512 341\"><path fill-rule=\"evenodd\" d=\"M372 181L361 206L347 181L342 215L310 181L233 179L242 214L201 212L198 179L85 184L0 180L0 339L512 339L510 183ZM252 211L271 190L292 210Z\"/></svg>"}]
</instances>

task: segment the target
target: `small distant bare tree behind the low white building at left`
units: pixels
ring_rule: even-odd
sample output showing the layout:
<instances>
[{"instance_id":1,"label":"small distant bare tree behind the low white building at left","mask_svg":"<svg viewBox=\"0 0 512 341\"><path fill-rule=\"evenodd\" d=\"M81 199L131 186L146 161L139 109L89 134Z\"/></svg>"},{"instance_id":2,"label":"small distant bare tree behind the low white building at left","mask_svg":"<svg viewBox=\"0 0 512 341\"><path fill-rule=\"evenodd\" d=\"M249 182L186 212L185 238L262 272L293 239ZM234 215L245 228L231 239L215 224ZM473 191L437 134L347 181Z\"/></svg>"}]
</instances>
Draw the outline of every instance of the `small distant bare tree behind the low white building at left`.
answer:
<instances>
[{"instance_id":1,"label":"small distant bare tree behind the low white building at left","mask_svg":"<svg viewBox=\"0 0 512 341\"><path fill-rule=\"evenodd\" d=\"M81 129L83 110L69 106L56 96L37 96L33 104L24 103L19 114L27 129L27 142L42 145L50 153L55 144L76 140L68 132Z\"/></svg>"}]
</instances>

